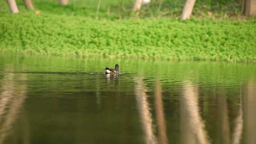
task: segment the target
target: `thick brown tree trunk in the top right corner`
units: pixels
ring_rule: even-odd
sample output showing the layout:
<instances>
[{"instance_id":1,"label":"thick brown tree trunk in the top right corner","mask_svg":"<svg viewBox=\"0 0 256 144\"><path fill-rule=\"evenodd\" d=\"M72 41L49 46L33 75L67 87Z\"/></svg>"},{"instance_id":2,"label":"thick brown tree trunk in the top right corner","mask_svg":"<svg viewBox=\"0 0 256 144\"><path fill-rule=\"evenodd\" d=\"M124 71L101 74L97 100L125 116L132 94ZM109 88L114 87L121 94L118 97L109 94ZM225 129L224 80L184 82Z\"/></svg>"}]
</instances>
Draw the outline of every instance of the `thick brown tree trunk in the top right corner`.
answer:
<instances>
[{"instance_id":1,"label":"thick brown tree trunk in the top right corner","mask_svg":"<svg viewBox=\"0 0 256 144\"><path fill-rule=\"evenodd\" d=\"M256 15L256 0L244 0L243 13L246 16Z\"/></svg>"}]
</instances>

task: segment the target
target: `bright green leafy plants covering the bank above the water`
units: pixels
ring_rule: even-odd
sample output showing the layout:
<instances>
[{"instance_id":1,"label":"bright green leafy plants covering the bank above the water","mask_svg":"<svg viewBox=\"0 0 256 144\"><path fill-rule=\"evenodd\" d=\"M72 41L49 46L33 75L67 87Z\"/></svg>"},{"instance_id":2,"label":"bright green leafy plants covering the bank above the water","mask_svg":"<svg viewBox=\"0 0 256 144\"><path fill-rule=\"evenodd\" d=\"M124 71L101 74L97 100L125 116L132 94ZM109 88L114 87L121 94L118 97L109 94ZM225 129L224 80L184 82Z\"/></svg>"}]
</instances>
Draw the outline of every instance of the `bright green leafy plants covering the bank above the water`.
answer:
<instances>
[{"instance_id":1,"label":"bright green leafy plants covering the bank above the water","mask_svg":"<svg viewBox=\"0 0 256 144\"><path fill-rule=\"evenodd\" d=\"M84 6L82 0L77 0L75 3L71 1L70 6L61 7L57 5L57 0L53 1L35 1L35 7L41 10L40 15L25 10L22 1L18 2L21 12L9 14L7 4L1 1L0 52L79 57L256 61L254 19L234 21L224 17L218 19L212 14L200 19L180 21L175 17L175 12L181 11L180 7L168 18L158 18L160 14L157 15L157 11L151 13L149 18L142 18L147 17L145 13L150 14L146 9L156 4L153 2L145 6L136 14L127 10L132 7L132 0L103 3L97 17L97 2L91 4L96 6L89 7ZM92 2L87 0L87 3L90 1ZM161 9L165 8L165 2ZM197 3L195 7L196 12L198 5ZM159 11L161 13L162 10Z\"/></svg>"}]
</instances>

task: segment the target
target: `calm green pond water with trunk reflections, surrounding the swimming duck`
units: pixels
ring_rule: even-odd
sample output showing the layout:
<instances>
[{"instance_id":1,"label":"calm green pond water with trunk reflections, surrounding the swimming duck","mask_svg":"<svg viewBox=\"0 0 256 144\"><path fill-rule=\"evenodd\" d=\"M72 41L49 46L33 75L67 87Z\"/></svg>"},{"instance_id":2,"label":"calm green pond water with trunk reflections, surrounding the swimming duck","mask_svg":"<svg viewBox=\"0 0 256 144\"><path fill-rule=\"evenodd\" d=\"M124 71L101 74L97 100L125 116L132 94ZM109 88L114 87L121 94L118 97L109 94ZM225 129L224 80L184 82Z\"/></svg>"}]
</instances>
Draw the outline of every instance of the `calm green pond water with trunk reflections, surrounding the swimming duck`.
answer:
<instances>
[{"instance_id":1,"label":"calm green pond water with trunk reflections, surrounding the swimming duck","mask_svg":"<svg viewBox=\"0 0 256 144\"><path fill-rule=\"evenodd\" d=\"M0 54L0 144L256 144L255 109L255 64Z\"/></svg>"}]
</instances>

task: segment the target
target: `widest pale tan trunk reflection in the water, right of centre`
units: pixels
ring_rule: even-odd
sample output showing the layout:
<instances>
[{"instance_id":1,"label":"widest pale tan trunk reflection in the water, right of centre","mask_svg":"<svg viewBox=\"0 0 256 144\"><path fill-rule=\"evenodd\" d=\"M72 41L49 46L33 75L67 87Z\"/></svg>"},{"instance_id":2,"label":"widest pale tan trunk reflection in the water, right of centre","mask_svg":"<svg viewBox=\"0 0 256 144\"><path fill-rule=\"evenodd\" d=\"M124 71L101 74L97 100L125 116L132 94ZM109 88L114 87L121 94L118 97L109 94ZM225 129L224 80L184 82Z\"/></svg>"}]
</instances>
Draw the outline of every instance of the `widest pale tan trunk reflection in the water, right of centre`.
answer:
<instances>
[{"instance_id":1,"label":"widest pale tan trunk reflection in the water, right of centre","mask_svg":"<svg viewBox=\"0 0 256 144\"><path fill-rule=\"evenodd\" d=\"M183 84L180 97L181 144L210 144L198 106L198 94L192 82Z\"/></svg>"}]
</instances>

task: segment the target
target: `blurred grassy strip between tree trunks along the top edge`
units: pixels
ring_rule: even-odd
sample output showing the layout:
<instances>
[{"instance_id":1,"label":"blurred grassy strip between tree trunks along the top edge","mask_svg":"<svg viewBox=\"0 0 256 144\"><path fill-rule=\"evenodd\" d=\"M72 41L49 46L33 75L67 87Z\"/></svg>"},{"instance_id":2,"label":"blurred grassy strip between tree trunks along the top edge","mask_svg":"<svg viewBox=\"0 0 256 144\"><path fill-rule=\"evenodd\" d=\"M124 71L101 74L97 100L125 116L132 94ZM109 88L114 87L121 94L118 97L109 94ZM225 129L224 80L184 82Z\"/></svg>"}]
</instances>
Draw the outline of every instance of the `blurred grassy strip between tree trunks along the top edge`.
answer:
<instances>
[{"instance_id":1,"label":"blurred grassy strip between tree trunks along the top edge","mask_svg":"<svg viewBox=\"0 0 256 144\"><path fill-rule=\"evenodd\" d=\"M16 1L19 10L27 12L22 0ZM150 4L142 6L137 12L132 12L134 0L69 0L68 6L58 5L58 0L32 1L35 8L43 13L114 20L179 18L186 0L151 0ZM242 5L243 0L196 0L192 18L248 19L241 15ZM8 12L6 1L1 0L0 13Z\"/></svg>"}]
</instances>

